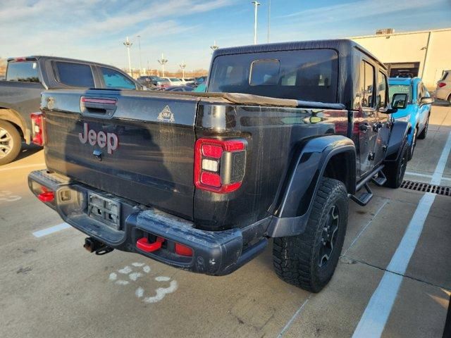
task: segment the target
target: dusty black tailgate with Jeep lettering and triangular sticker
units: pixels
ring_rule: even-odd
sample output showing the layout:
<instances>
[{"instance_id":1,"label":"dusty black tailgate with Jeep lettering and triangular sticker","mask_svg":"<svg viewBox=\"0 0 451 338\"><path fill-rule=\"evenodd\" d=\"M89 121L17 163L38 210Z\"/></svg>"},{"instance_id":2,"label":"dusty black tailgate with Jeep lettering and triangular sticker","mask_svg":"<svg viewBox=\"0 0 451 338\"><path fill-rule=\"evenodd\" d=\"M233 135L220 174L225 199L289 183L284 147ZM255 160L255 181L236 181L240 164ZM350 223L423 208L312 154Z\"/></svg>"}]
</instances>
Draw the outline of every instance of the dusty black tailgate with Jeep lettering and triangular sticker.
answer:
<instances>
[{"instance_id":1,"label":"dusty black tailgate with Jeep lettering and triangular sticker","mask_svg":"<svg viewBox=\"0 0 451 338\"><path fill-rule=\"evenodd\" d=\"M151 92L44 92L47 168L192 219L197 101Z\"/></svg>"}]
</instances>

